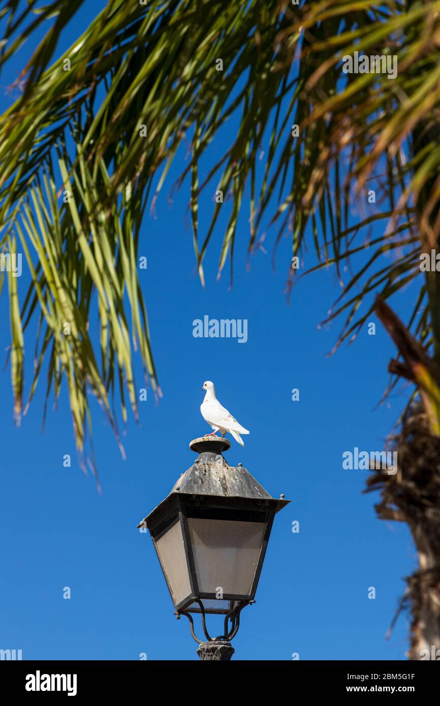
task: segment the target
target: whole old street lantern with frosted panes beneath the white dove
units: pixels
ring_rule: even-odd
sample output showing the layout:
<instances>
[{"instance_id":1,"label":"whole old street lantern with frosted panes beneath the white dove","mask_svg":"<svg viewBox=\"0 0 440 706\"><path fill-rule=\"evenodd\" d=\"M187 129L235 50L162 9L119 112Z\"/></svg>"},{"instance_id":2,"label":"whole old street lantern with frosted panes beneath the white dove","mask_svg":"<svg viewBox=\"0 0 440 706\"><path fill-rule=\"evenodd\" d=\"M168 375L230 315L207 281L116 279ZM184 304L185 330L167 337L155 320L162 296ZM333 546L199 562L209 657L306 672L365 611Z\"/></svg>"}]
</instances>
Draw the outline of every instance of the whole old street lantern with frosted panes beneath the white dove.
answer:
<instances>
[{"instance_id":1,"label":"whole old street lantern with frosted panes beneath the white dove","mask_svg":"<svg viewBox=\"0 0 440 706\"><path fill-rule=\"evenodd\" d=\"M177 618L189 619L198 656L231 659L242 609L254 603L275 513L276 500L240 464L222 456L230 442L203 436L189 444L198 457L170 494L138 527L148 528ZM205 641L194 632L201 616ZM225 616L222 635L212 638L206 616Z\"/></svg>"}]
</instances>

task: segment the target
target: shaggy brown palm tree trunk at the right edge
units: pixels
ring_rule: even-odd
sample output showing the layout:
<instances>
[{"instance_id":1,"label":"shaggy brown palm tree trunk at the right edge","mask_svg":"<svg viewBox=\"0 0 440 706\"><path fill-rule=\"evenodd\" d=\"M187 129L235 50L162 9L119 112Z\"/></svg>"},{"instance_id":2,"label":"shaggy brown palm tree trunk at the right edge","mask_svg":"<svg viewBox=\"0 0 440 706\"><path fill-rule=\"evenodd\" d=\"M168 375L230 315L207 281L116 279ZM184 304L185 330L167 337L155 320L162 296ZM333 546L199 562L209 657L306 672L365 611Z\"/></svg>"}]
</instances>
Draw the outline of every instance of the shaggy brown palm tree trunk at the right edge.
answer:
<instances>
[{"instance_id":1,"label":"shaggy brown palm tree trunk at the right edge","mask_svg":"<svg viewBox=\"0 0 440 706\"><path fill-rule=\"evenodd\" d=\"M398 452L398 472L374 469L367 490L381 489L376 513L407 522L417 549L419 567L406 578L400 604L411 614L408 658L433 659L439 650L440 659L440 438L420 404L408 411L390 443Z\"/></svg>"}]
</instances>

